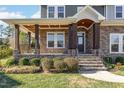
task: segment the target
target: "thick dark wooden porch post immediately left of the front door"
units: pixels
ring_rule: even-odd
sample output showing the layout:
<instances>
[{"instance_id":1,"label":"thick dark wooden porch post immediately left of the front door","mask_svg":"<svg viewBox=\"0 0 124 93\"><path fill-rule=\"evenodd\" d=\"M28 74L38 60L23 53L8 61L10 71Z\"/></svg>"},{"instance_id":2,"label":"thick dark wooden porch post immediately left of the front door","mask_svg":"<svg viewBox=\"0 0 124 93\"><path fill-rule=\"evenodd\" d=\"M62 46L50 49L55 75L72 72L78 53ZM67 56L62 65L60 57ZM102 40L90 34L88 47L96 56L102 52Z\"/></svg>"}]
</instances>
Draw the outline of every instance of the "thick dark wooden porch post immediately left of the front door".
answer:
<instances>
[{"instance_id":1,"label":"thick dark wooden porch post immediately left of the front door","mask_svg":"<svg viewBox=\"0 0 124 93\"><path fill-rule=\"evenodd\" d=\"M72 23L69 25L69 54L76 55L77 54L77 24Z\"/></svg>"}]
</instances>

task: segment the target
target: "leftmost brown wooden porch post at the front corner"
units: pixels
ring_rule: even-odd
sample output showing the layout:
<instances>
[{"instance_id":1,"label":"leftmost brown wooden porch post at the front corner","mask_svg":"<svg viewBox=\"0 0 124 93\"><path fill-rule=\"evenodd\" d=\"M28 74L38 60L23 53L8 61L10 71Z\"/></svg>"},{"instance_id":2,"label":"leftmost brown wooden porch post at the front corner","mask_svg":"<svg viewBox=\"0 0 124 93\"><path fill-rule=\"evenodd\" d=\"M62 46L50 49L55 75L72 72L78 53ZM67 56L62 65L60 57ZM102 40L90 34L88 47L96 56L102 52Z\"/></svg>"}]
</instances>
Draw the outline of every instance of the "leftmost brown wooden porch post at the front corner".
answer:
<instances>
[{"instance_id":1,"label":"leftmost brown wooden porch post at the front corner","mask_svg":"<svg viewBox=\"0 0 124 93\"><path fill-rule=\"evenodd\" d=\"M20 54L20 46L19 46L19 25L15 24L15 50L14 50L14 55Z\"/></svg>"}]
</instances>

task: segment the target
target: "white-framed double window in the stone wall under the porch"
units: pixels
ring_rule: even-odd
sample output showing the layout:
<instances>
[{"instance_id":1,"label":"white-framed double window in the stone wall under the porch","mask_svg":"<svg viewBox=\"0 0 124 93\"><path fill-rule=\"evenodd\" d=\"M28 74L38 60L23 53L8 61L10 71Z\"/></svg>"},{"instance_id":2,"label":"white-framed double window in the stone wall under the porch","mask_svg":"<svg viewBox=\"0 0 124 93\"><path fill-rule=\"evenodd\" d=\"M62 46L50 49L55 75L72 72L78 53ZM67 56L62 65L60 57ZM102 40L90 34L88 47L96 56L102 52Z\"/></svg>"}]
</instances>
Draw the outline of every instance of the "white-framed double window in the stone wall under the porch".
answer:
<instances>
[{"instance_id":1,"label":"white-framed double window in the stone wall under the porch","mask_svg":"<svg viewBox=\"0 0 124 93\"><path fill-rule=\"evenodd\" d=\"M64 33L62 32L48 32L47 33L47 47L48 48L64 48Z\"/></svg>"}]
</instances>

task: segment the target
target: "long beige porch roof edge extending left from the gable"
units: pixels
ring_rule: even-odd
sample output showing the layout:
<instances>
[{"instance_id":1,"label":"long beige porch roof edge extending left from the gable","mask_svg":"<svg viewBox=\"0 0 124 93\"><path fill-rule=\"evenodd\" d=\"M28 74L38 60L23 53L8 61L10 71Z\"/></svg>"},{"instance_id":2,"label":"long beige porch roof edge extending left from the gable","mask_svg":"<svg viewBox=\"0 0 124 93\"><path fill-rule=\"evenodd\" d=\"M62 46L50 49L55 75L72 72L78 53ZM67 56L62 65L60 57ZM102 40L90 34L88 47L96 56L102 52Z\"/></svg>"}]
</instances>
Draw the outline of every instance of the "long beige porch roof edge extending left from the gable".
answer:
<instances>
[{"instance_id":1,"label":"long beige porch roof edge extending left from the gable","mask_svg":"<svg viewBox=\"0 0 124 93\"><path fill-rule=\"evenodd\" d=\"M48 19L48 18L40 18L40 19L0 19L8 24L21 24L21 25L68 25L71 23L75 23L75 18L60 18L60 19Z\"/></svg>"}]
</instances>

